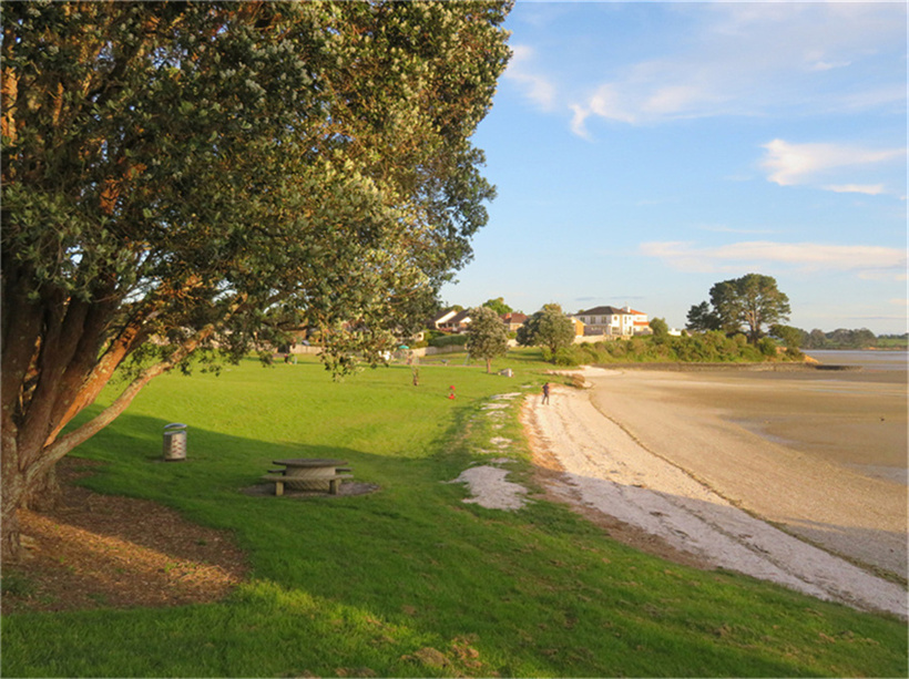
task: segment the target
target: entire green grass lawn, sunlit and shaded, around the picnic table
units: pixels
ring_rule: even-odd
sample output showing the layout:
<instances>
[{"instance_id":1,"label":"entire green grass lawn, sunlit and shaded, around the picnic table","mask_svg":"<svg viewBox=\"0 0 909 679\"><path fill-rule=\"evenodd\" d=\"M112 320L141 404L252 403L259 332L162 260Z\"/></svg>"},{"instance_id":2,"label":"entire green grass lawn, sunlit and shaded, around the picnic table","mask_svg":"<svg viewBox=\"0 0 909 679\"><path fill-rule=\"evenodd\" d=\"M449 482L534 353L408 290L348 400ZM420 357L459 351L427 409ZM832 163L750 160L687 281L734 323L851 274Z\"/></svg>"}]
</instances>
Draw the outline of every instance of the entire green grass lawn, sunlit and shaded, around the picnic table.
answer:
<instances>
[{"instance_id":1,"label":"entire green grass lawn, sunlit and shaded, around the picnic table","mask_svg":"<svg viewBox=\"0 0 909 679\"><path fill-rule=\"evenodd\" d=\"M538 392L538 356L497 361L510 379L425 361L419 387L406 366L338 383L314 360L159 378L75 452L109 463L84 483L232 531L248 582L219 604L6 615L2 676L907 675L897 619L640 554L539 498L462 503L446 482L493 436L513 441L510 479L532 484L520 400L501 429L483 405ZM168 422L188 424L185 462L160 462ZM381 490L241 492L288 456L341 457Z\"/></svg>"}]
</instances>

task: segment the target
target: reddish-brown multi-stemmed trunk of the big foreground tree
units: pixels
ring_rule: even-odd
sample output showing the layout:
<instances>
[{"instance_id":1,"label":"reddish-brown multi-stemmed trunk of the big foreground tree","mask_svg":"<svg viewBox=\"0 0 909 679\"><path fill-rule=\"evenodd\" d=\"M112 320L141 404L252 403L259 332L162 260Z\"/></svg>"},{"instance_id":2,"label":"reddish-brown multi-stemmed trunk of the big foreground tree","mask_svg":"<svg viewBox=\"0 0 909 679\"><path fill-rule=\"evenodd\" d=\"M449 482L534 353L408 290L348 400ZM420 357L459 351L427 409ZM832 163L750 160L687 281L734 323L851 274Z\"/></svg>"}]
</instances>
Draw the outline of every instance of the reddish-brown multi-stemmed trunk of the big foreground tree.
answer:
<instances>
[{"instance_id":1,"label":"reddish-brown multi-stemmed trunk of the big foreground tree","mask_svg":"<svg viewBox=\"0 0 909 679\"><path fill-rule=\"evenodd\" d=\"M18 288L9 285L3 281L4 301L8 294L19 295ZM222 321L244 300L245 297L238 297ZM144 336L139 326L126 326L99 358L108 313L104 305L86 310L72 299L65 309L49 302L50 310L42 315L24 297L13 301L18 302L18 313L6 317L0 371L3 562L21 556L18 510L47 511L60 501L54 465L113 422L145 384L192 353L214 332L214 325L197 330L167 359L140 372L102 412L63 434L67 423L94 401L116 367ZM41 328L47 330L42 333Z\"/></svg>"}]
</instances>

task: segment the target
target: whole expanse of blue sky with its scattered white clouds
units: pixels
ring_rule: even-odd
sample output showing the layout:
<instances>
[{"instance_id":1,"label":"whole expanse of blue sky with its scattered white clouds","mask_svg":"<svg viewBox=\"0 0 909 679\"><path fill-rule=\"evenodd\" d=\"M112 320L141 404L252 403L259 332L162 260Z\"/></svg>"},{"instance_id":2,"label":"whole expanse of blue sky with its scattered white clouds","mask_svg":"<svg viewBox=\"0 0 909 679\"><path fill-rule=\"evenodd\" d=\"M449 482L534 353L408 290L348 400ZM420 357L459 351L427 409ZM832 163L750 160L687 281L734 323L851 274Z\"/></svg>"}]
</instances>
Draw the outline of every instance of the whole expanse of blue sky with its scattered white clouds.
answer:
<instances>
[{"instance_id":1,"label":"whole expanse of blue sky with its scattered white clouds","mask_svg":"<svg viewBox=\"0 0 909 679\"><path fill-rule=\"evenodd\" d=\"M682 328L776 278L790 325L907 330L907 10L522 2L473 142L499 195L450 304Z\"/></svg>"}]
</instances>

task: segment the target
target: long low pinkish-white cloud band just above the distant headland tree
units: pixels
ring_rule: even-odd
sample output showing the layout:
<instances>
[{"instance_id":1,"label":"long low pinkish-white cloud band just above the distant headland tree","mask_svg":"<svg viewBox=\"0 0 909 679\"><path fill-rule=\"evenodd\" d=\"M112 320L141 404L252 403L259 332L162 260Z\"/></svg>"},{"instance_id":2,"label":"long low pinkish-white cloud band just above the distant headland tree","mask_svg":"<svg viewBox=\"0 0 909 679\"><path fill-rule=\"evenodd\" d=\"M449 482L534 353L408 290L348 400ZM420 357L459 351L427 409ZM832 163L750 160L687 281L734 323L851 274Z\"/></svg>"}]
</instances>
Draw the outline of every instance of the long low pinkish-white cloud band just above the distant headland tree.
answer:
<instances>
[{"instance_id":1,"label":"long low pinkish-white cloud band just above the distant headland tree","mask_svg":"<svg viewBox=\"0 0 909 679\"><path fill-rule=\"evenodd\" d=\"M906 274L905 249L866 245L774 243L756 240L717 247L692 243L643 243L641 254L685 271L733 271L786 266L807 271L854 271L859 276L897 278Z\"/></svg>"}]
</instances>

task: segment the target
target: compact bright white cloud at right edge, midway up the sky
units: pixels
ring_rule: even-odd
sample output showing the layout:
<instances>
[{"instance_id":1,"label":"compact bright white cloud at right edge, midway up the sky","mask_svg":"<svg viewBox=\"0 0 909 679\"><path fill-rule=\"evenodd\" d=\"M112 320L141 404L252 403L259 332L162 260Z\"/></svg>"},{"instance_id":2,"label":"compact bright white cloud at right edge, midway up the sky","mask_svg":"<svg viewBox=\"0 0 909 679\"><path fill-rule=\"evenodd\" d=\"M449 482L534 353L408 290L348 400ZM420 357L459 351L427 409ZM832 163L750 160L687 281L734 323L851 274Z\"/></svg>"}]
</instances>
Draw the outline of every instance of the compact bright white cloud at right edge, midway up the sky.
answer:
<instances>
[{"instance_id":1,"label":"compact bright white cloud at right edge, midway up the sky","mask_svg":"<svg viewBox=\"0 0 909 679\"><path fill-rule=\"evenodd\" d=\"M878 165L903 158L905 148L872 150L846 144L794 144L785 140L774 140L764 144L766 153L760 166L767 171L767 179L780 186L811 184L818 176L830 171ZM859 184L829 185L829 191L871 193L876 186ZM884 188L876 193L884 193ZM874 194L872 194L874 195Z\"/></svg>"}]
</instances>

